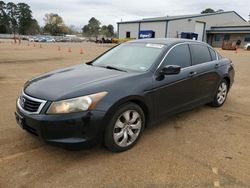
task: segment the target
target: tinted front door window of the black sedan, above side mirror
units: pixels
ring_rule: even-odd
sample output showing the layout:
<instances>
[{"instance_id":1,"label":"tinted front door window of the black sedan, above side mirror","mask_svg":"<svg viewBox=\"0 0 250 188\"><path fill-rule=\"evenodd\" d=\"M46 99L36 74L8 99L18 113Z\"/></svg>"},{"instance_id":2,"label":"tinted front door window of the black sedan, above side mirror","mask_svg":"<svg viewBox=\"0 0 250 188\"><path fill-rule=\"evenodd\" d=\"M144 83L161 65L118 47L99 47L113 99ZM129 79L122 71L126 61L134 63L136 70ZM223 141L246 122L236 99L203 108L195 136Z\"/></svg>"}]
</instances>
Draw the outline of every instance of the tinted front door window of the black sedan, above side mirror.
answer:
<instances>
[{"instance_id":1,"label":"tinted front door window of the black sedan, above side mirror","mask_svg":"<svg viewBox=\"0 0 250 188\"><path fill-rule=\"evenodd\" d=\"M190 50L187 44L181 44L174 47L163 62L163 66L178 65L185 68L191 65Z\"/></svg>"}]
</instances>

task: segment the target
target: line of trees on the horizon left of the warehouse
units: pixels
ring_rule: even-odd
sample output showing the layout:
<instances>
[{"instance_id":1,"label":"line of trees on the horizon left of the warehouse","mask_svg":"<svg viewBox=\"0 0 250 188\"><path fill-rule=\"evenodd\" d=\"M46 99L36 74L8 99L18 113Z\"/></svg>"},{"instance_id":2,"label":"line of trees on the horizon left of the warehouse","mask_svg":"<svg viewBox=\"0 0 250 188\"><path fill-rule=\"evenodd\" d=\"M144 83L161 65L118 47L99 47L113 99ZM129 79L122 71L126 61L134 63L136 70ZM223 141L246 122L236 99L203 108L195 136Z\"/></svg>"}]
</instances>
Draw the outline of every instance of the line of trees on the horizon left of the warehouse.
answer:
<instances>
[{"instance_id":1,"label":"line of trees on the horizon left of the warehouse","mask_svg":"<svg viewBox=\"0 0 250 188\"><path fill-rule=\"evenodd\" d=\"M0 1L0 33L3 34L75 34L78 33L74 25L65 25L63 18L56 13L45 14L44 27L40 27L37 20L33 18L32 10L26 3L13 3ZM113 25L101 25L96 18L91 18L89 23L82 28L82 33L88 37L114 36Z\"/></svg>"}]
</instances>

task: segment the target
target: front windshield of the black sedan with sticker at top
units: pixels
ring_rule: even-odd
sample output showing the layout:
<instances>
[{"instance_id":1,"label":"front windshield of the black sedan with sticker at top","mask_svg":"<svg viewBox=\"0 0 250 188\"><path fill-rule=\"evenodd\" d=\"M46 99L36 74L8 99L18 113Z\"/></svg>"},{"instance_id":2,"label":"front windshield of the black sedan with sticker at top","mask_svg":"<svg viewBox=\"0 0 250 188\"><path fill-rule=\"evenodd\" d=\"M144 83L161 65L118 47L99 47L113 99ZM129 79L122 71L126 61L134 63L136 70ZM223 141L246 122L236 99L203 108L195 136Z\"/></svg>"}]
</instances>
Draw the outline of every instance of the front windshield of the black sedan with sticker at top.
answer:
<instances>
[{"instance_id":1,"label":"front windshield of the black sedan with sticker at top","mask_svg":"<svg viewBox=\"0 0 250 188\"><path fill-rule=\"evenodd\" d=\"M125 43L110 50L92 63L94 66L145 72L163 50L162 44Z\"/></svg>"}]
</instances>

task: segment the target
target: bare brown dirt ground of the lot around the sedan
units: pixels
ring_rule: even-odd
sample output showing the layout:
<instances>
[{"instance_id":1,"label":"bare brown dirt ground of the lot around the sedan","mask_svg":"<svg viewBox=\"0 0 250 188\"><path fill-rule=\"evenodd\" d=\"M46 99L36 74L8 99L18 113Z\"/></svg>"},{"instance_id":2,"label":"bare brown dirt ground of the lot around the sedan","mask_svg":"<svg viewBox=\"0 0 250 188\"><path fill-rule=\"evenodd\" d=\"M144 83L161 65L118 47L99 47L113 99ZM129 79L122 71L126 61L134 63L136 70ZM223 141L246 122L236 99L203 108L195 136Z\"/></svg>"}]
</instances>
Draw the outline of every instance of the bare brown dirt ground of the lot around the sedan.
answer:
<instances>
[{"instance_id":1,"label":"bare brown dirt ground of the lot around the sedan","mask_svg":"<svg viewBox=\"0 0 250 188\"><path fill-rule=\"evenodd\" d=\"M1 188L250 187L250 52L243 50L219 50L236 69L222 108L202 106L172 117L145 130L130 151L111 153L102 146L68 151L46 145L17 126L15 100L26 80L86 62L109 47L65 43L39 48L1 41Z\"/></svg>"}]
</instances>

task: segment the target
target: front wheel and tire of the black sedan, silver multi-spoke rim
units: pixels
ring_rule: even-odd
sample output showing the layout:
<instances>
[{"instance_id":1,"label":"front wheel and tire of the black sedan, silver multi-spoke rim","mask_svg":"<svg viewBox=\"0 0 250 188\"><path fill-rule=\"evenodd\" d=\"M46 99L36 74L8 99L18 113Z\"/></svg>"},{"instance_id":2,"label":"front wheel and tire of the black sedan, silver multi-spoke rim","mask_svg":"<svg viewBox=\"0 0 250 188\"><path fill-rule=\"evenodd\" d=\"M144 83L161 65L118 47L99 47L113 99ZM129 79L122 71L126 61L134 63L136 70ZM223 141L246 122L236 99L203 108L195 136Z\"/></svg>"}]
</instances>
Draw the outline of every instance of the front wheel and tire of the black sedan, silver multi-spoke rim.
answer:
<instances>
[{"instance_id":1,"label":"front wheel and tire of the black sedan, silver multi-spoke rim","mask_svg":"<svg viewBox=\"0 0 250 188\"><path fill-rule=\"evenodd\" d=\"M145 127L143 110L135 103L119 107L111 117L104 133L104 144L113 152L132 148L139 140Z\"/></svg>"}]
</instances>

